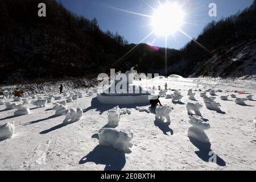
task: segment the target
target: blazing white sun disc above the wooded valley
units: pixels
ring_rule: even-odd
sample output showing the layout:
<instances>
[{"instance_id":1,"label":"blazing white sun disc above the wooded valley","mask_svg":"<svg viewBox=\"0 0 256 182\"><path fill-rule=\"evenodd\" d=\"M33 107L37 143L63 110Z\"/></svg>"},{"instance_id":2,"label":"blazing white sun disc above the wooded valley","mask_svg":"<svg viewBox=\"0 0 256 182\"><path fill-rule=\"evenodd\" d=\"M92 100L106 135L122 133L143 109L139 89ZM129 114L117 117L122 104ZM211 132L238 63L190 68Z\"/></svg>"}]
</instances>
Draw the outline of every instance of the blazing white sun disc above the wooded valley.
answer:
<instances>
[{"instance_id":1,"label":"blazing white sun disc above the wooded valley","mask_svg":"<svg viewBox=\"0 0 256 182\"><path fill-rule=\"evenodd\" d=\"M177 3L160 5L152 15L154 32L159 36L174 34L183 24L184 13Z\"/></svg>"}]
</instances>

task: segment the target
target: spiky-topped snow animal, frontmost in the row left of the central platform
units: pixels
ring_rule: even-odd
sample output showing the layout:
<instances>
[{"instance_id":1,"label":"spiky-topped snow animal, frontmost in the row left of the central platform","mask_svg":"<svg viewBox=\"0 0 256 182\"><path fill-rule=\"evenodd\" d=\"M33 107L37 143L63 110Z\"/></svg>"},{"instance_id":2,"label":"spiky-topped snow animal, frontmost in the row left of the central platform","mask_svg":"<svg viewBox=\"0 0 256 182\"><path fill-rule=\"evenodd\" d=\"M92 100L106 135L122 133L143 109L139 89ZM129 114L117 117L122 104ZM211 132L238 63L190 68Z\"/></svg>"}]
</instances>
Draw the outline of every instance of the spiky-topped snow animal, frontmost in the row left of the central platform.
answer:
<instances>
[{"instance_id":1,"label":"spiky-topped snow animal, frontmost in the row left of the central platform","mask_svg":"<svg viewBox=\"0 0 256 182\"><path fill-rule=\"evenodd\" d=\"M66 118L63 121L63 124L73 123L79 121L82 118L82 110L80 108L77 109L67 109L64 111L62 115L65 115Z\"/></svg>"}]
</instances>

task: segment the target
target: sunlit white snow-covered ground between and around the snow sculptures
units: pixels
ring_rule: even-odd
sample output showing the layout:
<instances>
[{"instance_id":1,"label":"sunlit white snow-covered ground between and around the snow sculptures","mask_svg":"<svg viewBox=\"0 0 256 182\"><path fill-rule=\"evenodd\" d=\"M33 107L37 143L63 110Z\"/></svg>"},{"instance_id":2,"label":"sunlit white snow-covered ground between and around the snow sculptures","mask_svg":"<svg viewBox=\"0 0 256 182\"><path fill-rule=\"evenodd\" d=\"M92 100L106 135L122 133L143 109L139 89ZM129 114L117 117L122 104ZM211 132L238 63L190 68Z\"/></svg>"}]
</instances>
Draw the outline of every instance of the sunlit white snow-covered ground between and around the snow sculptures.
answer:
<instances>
[{"instance_id":1,"label":"sunlit white snow-covered ground between and around the snow sculptures","mask_svg":"<svg viewBox=\"0 0 256 182\"><path fill-rule=\"evenodd\" d=\"M118 152L98 144L98 130L106 127L108 110L116 105L102 105L97 101L97 93L89 96L86 90L80 90L84 97L67 106L80 107L84 115L80 121L70 125L62 125L64 116L53 116L53 104L42 108L28 104L31 114L19 117L14 117L15 110L5 110L6 107L1 105L0 125L14 121L15 133L12 138L0 142L0 170L256 169L256 132L253 128L256 101L246 101L247 106L241 106L234 102L236 98L229 97L228 101L220 99L230 94L245 98L247 94L236 92L246 92L254 94L256 100L256 81L164 78L136 82L143 86L160 85L162 88L167 82L168 88L180 89L184 97L181 98L183 103L179 104L174 104L171 99L160 98L163 105L174 107L170 114L171 125L156 122L154 111L139 112L136 110L137 105L119 106L131 110L131 114L121 115L117 127L133 132L131 142L134 146L131 152ZM221 111L218 112L208 110L200 97L199 89L204 91L212 88L222 90L216 92L215 96L221 104ZM189 89L196 93L197 101L188 99ZM188 102L203 105L200 111L203 118L209 120L210 129L205 130L205 133L211 146L206 149L188 138L191 127L186 109ZM148 108L150 105L140 106ZM217 154L217 164L208 162L210 151Z\"/></svg>"}]
</instances>

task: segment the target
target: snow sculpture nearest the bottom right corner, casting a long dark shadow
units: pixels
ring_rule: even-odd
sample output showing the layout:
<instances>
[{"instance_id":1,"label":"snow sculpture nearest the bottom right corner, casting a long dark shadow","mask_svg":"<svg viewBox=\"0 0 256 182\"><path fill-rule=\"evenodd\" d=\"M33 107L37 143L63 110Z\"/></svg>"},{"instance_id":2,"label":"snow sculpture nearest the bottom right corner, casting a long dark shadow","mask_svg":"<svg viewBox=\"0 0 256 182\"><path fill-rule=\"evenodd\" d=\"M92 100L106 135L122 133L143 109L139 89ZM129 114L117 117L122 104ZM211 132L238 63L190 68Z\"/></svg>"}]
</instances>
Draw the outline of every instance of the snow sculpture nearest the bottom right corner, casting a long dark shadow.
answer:
<instances>
[{"instance_id":1,"label":"snow sculpture nearest the bottom right corner, casting a long dark shadow","mask_svg":"<svg viewBox=\"0 0 256 182\"><path fill-rule=\"evenodd\" d=\"M198 115L189 116L189 119L189 123L191 123L192 127L188 129L188 137L202 143L209 143L209 138L204 132L204 130L210 128L209 123L204 122L203 118Z\"/></svg>"}]
</instances>

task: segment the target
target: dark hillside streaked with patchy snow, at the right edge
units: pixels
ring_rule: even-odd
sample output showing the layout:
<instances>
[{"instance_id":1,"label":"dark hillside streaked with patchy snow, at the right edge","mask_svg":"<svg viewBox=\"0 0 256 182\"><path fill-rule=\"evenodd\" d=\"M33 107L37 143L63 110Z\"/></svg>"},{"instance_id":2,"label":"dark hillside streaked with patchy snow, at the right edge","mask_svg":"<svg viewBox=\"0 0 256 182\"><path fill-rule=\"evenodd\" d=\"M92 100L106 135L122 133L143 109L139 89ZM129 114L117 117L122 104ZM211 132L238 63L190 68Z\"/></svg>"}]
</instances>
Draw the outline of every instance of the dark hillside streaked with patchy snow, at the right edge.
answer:
<instances>
[{"instance_id":1,"label":"dark hillside streaked with patchy snow, at the right edge","mask_svg":"<svg viewBox=\"0 0 256 182\"><path fill-rule=\"evenodd\" d=\"M199 61L191 77L256 78L256 40L250 43L226 46L212 52L212 57Z\"/></svg>"}]
</instances>

